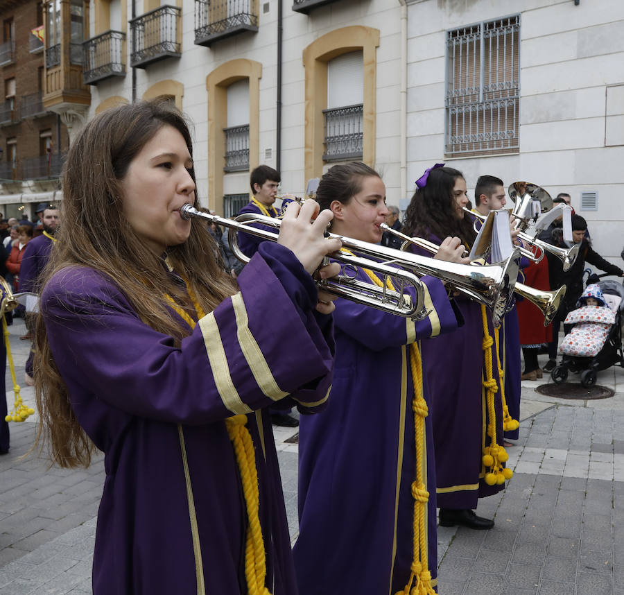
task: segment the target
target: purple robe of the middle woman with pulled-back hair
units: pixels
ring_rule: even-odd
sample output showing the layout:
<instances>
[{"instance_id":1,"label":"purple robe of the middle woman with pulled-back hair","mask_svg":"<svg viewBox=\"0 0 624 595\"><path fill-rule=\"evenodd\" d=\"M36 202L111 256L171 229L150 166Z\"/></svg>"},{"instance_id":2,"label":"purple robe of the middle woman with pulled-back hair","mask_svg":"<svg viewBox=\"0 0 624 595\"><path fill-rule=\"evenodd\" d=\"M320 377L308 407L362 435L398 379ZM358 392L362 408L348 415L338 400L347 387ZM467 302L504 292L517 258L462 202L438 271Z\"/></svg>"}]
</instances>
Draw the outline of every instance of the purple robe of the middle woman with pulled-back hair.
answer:
<instances>
[{"instance_id":1,"label":"purple robe of the middle woman with pulled-back hair","mask_svg":"<svg viewBox=\"0 0 624 595\"><path fill-rule=\"evenodd\" d=\"M358 278L367 280L361 272ZM442 283L423 280L431 296L428 309L435 311L419 322L336 301L331 399L320 415L303 416L300 422L300 535L293 553L301 595L388 594L408 582L410 488L416 478L410 343L458 324ZM428 400L426 374L423 390ZM425 430L428 567L435 585L431 417L425 418Z\"/></svg>"}]
</instances>

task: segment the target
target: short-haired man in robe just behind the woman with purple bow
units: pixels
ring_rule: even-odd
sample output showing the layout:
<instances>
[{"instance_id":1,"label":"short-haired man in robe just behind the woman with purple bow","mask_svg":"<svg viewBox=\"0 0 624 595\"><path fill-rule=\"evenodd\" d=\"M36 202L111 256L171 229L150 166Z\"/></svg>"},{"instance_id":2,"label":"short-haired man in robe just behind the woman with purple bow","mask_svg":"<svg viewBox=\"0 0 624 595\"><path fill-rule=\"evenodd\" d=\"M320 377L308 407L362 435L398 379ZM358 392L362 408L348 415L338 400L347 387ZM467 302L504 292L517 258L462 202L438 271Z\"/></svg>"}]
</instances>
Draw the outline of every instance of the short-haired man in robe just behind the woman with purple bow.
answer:
<instances>
[{"instance_id":1,"label":"short-haired man in robe just behind the woman with purple bow","mask_svg":"<svg viewBox=\"0 0 624 595\"><path fill-rule=\"evenodd\" d=\"M474 189L475 208L473 211L487 215L490 211L503 209L507 204L505 187L501 178L494 175L481 175ZM521 259L521 266L526 266L528 261ZM520 364L520 341L518 316L514 307L505 314L499 331L501 343L501 365L505 374L505 402L509 408L509 414L514 420L520 417L520 393L521 393L521 364ZM505 431L505 438L517 440L519 430ZM505 442L505 446L511 446L511 442Z\"/></svg>"}]
</instances>

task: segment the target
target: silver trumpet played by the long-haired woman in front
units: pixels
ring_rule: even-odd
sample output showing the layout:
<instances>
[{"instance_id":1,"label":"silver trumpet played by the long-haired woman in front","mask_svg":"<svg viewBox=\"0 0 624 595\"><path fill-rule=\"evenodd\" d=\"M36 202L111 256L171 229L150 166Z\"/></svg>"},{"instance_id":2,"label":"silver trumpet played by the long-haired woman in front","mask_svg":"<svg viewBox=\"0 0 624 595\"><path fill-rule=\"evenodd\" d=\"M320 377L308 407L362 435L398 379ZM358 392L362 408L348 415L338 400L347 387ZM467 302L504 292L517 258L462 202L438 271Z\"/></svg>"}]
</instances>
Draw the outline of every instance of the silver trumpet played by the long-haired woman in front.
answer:
<instances>
[{"instance_id":1,"label":"silver trumpet played by the long-haired woman in front","mask_svg":"<svg viewBox=\"0 0 624 595\"><path fill-rule=\"evenodd\" d=\"M248 262L249 258L241 252L236 232L241 231L266 240L277 241L277 234L268 230L252 227L251 225L253 223L262 223L263 225L270 225L271 227L280 227L281 225L279 219L254 213L239 215L236 217L236 220L231 221L217 215L202 213L188 204L180 207L180 215L185 219L201 217L217 225L228 227L227 238L229 246L236 258L243 262ZM518 265L515 261L517 252L514 252L512 257L505 262L476 267L442 260L434 261L431 258L415 255L411 252L401 252L401 250L395 250L394 248L384 248L377 244L347 238L345 236L338 236L336 234L327 235L330 238L336 238L342 241L345 248L381 260L381 262L378 262L376 260L354 257L344 254L343 252L336 252L332 257L345 264L343 273L338 275L335 280L316 279L316 283L320 288L328 293L333 293L333 295L338 295L352 300L353 302L366 304L380 310L391 311L392 313L406 318L422 318L426 316L426 312L423 310L424 289L418 277L431 275L449 284L451 288L466 293L474 300L492 309L492 319L496 326L500 325L502 316L512 300L512 291L518 275ZM397 268L395 268L397 265L405 270L397 270ZM370 284L363 284L365 295L362 295L361 288L353 283L356 280L353 278L355 276L354 268L357 267L377 270L385 277L390 275L390 277L398 277L399 279L406 279L406 281L409 279L410 283L413 284L417 288L417 292L419 292L417 293L418 303L410 304L410 310L408 313L405 313L395 302L400 302L407 296L402 296L401 298L401 295L392 295L391 292L385 288L377 288L378 291L376 291L374 301L371 301L367 293L372 291L372 286ZM345 274L345 270L347 274ZM345 285L349 286L349 291L344 287ZM401 291L398 293L401 293ZM392 297L390 307L385 303L388 295Z\"/></svg>"}]
</instances>

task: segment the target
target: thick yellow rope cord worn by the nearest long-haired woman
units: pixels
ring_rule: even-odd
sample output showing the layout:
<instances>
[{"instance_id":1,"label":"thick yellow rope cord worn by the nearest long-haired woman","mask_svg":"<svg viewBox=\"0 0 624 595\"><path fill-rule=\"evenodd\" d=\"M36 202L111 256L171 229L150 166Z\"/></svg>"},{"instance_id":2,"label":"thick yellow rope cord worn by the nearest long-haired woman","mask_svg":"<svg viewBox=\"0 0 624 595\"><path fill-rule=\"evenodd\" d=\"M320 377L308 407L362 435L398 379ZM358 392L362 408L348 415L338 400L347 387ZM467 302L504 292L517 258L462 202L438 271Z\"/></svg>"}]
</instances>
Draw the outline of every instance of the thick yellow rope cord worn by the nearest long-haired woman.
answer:
<instances>
[{"instance_id":1,"label":"thick yellow rope cord worn by the nearest long-haired woman","mask_svg":"<svg viewBox=\"0 0 624 595\"><path fill-rule=\"evenodd\" d=\"M187 279L184 279L184 283L187 285L187 291L198 318L202 318L205 316L204 310ZM191 328L194 328L196 321L187 312L177 307L171 296L165 295L165 298L182 320L187 322ZM239 465L245 508L247 508L248 527L245 541L245 578L247 579L249 595L270 595L269 590L264 585L266 579L266 553L264 551L264 539L259 517L260 494L256 455L251 434L245 427L245 424L247 424L246 415L234 415L234 417L229 417L225 420L227 434L234 447L236 463Z\"/></svg>"}]
</instances>

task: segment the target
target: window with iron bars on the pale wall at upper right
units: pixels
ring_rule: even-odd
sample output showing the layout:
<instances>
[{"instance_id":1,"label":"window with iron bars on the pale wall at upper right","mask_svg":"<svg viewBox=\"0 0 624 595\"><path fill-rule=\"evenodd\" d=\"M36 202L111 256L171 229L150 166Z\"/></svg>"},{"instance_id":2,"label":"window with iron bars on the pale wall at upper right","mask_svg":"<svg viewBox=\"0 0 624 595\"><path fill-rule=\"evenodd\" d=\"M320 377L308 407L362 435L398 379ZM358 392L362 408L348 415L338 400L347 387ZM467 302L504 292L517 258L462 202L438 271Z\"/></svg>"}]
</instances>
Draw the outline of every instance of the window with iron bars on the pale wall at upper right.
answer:
<instances>
[{"instance_id":1,"label":"window with iron bars on the pale wall at upper right","mask_svg":"<svg viewBox=\"0 0 624 595\"><path fill-rule=\"evenodd\" d=\"M520 16L447 31L444 153L519 151Z\"/></svg>"}]
</instances>

